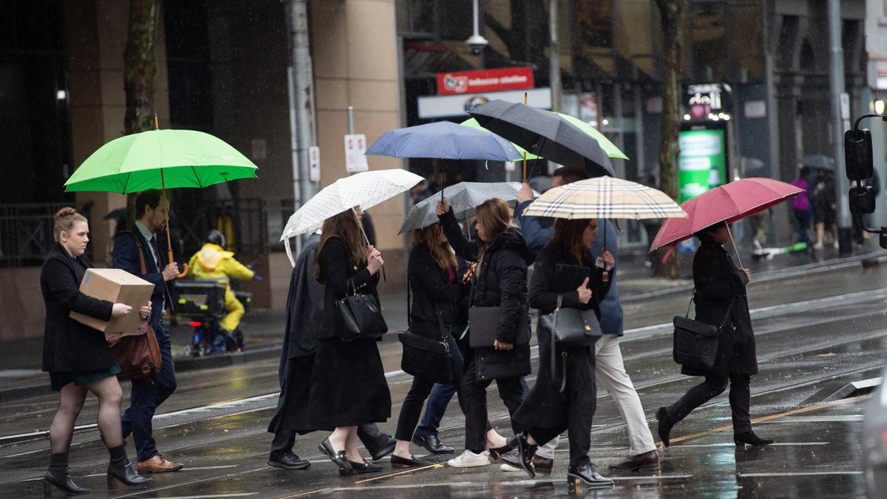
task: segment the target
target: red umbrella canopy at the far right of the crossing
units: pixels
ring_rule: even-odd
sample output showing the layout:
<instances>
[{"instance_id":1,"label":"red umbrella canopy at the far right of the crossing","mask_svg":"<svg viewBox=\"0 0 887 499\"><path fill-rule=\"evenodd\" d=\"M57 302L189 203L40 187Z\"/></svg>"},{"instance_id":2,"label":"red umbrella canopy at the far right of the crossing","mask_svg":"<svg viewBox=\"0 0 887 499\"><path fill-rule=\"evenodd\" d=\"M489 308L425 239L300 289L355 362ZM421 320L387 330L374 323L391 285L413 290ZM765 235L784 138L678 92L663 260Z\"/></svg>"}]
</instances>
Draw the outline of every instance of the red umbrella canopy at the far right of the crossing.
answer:
<instances>
[{"instance_id":1,"label":"red umbrella canopy at the far right of the crossing","mask_svg":"<svg viewBox=\"0 0 887 499\"><path fill-rule=\"evenodd\" d=\"M734 222L804 192L773 178L742 178L718 186L683 202L687 218L666 220L656 234L650 251L677 244L718 222Z\"/></svg>"}]
</instances>

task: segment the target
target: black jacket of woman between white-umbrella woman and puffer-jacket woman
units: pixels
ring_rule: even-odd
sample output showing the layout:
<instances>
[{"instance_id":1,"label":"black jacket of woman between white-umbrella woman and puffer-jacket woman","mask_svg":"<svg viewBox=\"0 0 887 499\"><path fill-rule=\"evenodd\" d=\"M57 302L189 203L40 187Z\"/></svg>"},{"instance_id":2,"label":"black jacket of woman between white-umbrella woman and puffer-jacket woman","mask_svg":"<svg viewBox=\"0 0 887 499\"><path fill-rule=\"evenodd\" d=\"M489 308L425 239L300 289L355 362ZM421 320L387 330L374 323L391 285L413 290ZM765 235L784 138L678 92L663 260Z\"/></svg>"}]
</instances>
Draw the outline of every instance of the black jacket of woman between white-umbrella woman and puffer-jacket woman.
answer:
<instances>
[{"instance_id":1,"label":"black jacket of woman between white-umbrella woman and puffer-jacket woman","mask_svg":"<svg viewBox=\"0 0 887 499\"><path fill-rule=\"evenodd\" d=\"M450 271L437 265L425 243L412 247L406 268L412 291L410 321L427 322L432 329L437 329L436 310L440 310L443 327L450 329L465 289L457 269L452 269L454 280L448 284Z\"/></svg>"}]
</instances>

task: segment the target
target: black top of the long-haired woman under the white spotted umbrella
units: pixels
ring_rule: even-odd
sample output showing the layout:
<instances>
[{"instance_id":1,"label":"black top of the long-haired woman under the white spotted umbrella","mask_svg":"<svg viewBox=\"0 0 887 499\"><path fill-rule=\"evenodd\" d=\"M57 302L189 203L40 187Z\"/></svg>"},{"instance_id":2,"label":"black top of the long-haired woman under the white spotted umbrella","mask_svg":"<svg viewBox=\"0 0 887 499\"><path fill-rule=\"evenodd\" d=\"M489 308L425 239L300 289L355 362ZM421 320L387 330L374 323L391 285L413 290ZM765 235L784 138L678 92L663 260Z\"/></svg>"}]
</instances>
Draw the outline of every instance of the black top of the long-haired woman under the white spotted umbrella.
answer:
<instances>
[{"instance_id":1,"label":"black top of the long-haired woman under the white spotted umbrella","mask_svg":"<svg viewBox=\"0 0 887 499\"><path fill-rule=\"evenodd\" d=\"M376 300L379 293L376 284L379 282L379 273L370 275L366 266L359 269L351 264L351 250L348 243L339 236L332 236L326 240L324 247L318 253L318 262L324 273L324 312L323 322L320 328L320 339L341 339L339 327L339 315L336 312L335 302L344 298L350 289L350 282L354 282L355 288L363 293L370 293ZM380 304L381 305L381 304Z\"/></svg>"}]
</instances>

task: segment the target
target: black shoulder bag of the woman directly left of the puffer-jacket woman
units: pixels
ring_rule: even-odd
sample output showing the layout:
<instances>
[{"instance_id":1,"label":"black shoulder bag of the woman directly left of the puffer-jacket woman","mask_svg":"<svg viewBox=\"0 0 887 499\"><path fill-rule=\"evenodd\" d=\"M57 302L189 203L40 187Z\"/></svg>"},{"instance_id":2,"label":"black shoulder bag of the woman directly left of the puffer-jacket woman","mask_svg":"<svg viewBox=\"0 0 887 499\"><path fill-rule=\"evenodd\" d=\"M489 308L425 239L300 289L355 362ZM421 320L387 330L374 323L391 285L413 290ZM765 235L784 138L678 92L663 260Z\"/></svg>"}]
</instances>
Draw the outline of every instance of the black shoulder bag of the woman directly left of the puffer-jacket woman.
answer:
<instances>
[{"instance_id":1,"label":"black shoulder bag of the woman directly left of the puffer-jacket woman","mask_svg":"<svg viewBox=\"0 0 887 499\"><path fill-rule=\"evenodd\" d=\"M406 313L410 322L410 282L406 283ZM440 339L431 339L412 332L410 329L397 331L397 339L403 345L404 352L400 360L400 368L406 374L433 381L440 384L452 384L452 353L446 341L447 329L443 327L441 310L435 302L437 330Z\"/></svg>"}]
</instances>

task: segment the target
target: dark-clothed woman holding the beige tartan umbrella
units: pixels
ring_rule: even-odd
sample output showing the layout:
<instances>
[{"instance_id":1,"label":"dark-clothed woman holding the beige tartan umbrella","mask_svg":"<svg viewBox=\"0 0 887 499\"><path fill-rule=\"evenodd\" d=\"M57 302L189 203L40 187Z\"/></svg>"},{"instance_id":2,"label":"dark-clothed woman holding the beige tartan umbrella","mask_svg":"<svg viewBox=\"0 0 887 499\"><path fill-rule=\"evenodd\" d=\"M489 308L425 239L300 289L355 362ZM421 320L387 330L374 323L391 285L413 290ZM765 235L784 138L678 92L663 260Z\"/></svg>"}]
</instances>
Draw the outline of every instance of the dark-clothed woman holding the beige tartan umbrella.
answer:
<instances>
[{"instance_id":1,"label":"dark-clothed woman holding the beige tartan umbrella","mask_svg":"<svg viewBox=\"0 0 887 499\"><path fill-rule=\"evenodd\" d=\"M513 441L518 442L519 463L533 477L536 476L533 455L538 448L537 442L551 441L566 430L569 432L568 480L578 479L590 485L612 483L594 469L588 458L597 405L593 346L598 337L559 344L553 342L553 331L541 326L541 315L554 313L559 308L593 310L600 321L600 300L607 295L610 281L603 281L603 269L592 262L589 249L597 234L596 219L558 218L551 242L539 252L533 266L530 306L537 308L540 314L540 325L536 329L539 370L530 395L513 416L518 431ZM615 274L613 255L605 249L601 259ZM558 272L561 265L570 265L570 268L578 265L584 267L584 271L571 273L568 277L567 273ZM583 275L585 279L576 287ZM559 322L558 329L564 327L561 324L565 323Z\"/></svg>"}]
</instances>

